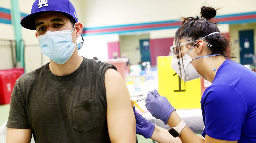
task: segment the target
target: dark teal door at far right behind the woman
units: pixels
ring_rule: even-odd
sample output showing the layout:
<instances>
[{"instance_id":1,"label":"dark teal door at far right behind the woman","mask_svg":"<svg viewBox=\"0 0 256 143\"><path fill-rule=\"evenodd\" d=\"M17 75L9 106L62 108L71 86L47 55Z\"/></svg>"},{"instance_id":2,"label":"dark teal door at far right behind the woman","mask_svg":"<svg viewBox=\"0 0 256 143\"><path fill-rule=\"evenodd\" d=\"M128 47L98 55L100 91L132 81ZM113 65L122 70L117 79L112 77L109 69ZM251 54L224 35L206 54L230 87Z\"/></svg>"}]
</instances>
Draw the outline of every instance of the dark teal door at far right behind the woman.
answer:
<instances>
[{"instance_id":1,"label":"dark teal door at far right behind the woman","mask_svg":"<svg viewBox=\"0 0 256 143\"><path fill-rule=\"evenodd\" d=\"M239 31L239 44L240 44L240 63L252 64L252 57L254 55L254 40L253 30Z\"/></svg>"}]
</instances>

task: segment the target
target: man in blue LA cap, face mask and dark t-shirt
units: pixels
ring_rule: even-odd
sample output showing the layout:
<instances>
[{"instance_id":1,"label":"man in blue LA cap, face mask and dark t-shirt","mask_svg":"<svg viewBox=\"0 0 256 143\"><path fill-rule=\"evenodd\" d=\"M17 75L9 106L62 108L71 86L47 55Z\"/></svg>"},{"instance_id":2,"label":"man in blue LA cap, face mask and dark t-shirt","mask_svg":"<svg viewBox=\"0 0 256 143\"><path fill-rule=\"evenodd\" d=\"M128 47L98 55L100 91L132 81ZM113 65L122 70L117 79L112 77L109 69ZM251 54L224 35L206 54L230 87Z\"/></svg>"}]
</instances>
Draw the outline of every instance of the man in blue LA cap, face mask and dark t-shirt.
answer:
<instances>
[{"instance_id":1,"label":"man in blue LA cap, face mask and dark t-shirt","mask_svg":"<svg viewBox=\"0 0 256 143\"><path fill-rule=\"evenodd\" d=\"M36 0L21 20L50 63L20 77L7 143L135 142L129 92L116 67L78 55L83 25L69 0Z\"/></svg>"}]
</instances>

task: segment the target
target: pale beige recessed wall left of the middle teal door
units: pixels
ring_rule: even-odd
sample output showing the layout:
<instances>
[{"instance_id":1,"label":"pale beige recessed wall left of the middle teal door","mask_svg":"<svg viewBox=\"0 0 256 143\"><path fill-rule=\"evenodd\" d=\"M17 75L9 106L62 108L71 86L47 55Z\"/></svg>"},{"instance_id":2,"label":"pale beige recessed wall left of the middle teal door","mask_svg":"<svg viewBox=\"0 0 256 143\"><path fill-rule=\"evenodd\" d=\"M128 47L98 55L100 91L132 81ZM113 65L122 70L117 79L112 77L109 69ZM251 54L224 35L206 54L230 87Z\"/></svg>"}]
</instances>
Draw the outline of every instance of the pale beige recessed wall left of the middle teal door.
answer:
<instances>
[{"instance_id":1,"label":"pale beige recessed wall left of the middle teal door","mask_svg":"<svg viewBox=\"0 0 256 143\"><path fill-rule=\"evenodd\" d=\"M141 61L139 40L149 38L149 34L120 36L121 54L126 53L131 64L138 64Z\"/></svg>"}]
</instances>

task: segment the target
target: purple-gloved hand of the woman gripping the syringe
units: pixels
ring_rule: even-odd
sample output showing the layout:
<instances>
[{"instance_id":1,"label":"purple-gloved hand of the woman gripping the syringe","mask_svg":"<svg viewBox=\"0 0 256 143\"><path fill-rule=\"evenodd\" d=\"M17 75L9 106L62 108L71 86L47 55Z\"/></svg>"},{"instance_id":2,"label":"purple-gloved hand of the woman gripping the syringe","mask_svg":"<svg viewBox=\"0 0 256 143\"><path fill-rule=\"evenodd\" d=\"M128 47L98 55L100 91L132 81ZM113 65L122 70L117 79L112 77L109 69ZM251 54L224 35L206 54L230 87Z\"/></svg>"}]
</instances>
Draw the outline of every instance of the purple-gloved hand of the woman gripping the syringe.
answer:
<instances>
[{"instance_id":1,"label":"purple-gloved hand of the woman gripping the syringe","mask_svg":"<svg viewBox=\"0 0 256 143\"><path fill-rule=\"evenodd\" d=\"M156 89L153 92L148 92L146 108L152 116L164 121L164 124L167 124L172 111L175 110L168 99L159 95Z\"/></svg>"}]
</instances>

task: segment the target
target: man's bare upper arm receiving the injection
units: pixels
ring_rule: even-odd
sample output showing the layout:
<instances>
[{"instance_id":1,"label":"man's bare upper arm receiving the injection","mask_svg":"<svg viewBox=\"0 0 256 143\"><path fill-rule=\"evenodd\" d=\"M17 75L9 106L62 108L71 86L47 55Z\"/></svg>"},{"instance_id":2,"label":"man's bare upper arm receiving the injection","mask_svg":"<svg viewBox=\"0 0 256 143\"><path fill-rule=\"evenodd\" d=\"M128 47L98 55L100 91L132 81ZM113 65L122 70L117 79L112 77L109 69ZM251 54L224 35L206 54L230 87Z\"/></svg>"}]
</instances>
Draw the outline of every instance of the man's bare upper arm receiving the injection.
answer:
<instances>
[{"instance_id":1,"label":"man's bare upper arm receiving the injection","mask_svg":"<svg viewBox=\"0 0 256 143\"><path fill-rule=\"evenodd\" d=\"M131 98L122 76L114 69L105 73L107 124L111 142L135 142L136 126Z\"/></svg>"}]
</instances>

